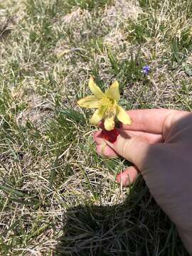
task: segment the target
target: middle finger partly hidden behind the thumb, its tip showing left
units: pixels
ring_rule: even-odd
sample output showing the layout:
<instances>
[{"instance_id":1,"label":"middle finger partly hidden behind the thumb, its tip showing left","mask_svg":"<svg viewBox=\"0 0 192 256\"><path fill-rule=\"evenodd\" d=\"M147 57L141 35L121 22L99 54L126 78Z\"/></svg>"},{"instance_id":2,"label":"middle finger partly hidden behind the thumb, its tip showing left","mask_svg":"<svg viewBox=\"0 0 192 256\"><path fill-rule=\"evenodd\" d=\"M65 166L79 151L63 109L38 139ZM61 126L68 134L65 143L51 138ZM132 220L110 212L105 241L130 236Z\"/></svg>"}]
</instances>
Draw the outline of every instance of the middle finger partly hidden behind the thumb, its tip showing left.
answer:
<instances>
[{"instance_id":1,"label":"middle finger partly hidden behind the thumb, its tip showing left","mask_svg":"<svg viewBox=\"0 0 192 256\"><path fill-rule=\"evenodd\" d=\"M120 132L122 131L120 130ZM142 137L142 139L145 139L147 142L151 144L163 142L163 137L161 134L152 134L149 132L126 131L126 130L124 132L129 137L133 137L133 136ZM102 144L104 142L104 139L102 138L102 134L100 131L95 132L95 134L93 134L93 138L97 144Z\"/></svg>"}]
</instances>

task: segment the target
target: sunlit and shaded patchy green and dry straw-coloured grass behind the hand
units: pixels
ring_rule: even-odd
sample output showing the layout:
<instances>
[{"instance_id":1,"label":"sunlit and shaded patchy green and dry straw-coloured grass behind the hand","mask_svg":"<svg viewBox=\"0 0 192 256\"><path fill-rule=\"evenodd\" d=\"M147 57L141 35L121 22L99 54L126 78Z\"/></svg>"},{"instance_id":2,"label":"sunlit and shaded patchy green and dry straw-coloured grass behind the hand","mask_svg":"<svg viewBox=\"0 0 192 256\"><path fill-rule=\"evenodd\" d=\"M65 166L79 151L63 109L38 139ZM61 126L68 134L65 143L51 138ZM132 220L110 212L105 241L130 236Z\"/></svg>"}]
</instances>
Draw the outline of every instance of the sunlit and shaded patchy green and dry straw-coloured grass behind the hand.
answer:
<instances>
[{"instance_id":1,"label":"sunlit and shaded patchy green and dry straw-coloured grass behind the hand","mask_svg":"<svg viewBox=\"0 0 192 256\"><path fill-rule=\"evenodd\" d=\"M95 152L94 75L129 109L191 111L191 1L0 1L1 255L187 255L127 161ZM149 76L143 65L151 66Z\"/></svg>"}]
</instances>

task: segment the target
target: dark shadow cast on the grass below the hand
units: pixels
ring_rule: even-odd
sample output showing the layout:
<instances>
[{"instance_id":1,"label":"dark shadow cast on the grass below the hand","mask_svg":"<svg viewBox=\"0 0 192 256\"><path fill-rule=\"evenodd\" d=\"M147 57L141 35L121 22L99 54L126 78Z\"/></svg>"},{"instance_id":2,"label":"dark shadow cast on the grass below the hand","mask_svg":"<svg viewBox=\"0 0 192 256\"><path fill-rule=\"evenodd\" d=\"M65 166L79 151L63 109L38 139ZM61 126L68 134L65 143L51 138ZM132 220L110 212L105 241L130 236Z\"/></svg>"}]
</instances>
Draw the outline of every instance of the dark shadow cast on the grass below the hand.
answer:
<instances>
[{"instance_id":1,"label":"dark shadow cast on the grass below the hand","mask_svg":"<svg viewBox=\"0 0 192 256\"><path fill-rule=\"evenodd\" d=\"M56 255L188 255L143 179L122 204L77 206L64 216Z\"/></svg>"}]
</instances>

